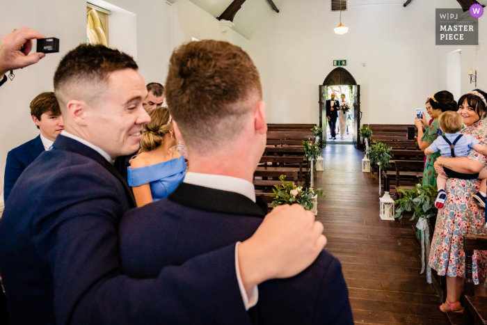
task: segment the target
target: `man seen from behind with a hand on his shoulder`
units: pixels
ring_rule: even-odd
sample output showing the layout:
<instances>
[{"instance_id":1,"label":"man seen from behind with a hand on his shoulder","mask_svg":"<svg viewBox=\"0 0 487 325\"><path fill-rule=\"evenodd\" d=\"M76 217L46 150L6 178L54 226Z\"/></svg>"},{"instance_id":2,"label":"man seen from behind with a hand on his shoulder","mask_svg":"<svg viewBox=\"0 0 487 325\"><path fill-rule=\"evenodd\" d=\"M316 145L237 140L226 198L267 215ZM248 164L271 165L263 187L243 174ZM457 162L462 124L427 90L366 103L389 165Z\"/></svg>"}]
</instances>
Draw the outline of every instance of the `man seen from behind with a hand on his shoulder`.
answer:
<instances>
[{"instance_id":1,"label":"man seen from behind with a hand on his shoulder","mask_svg":"<svg viewBox=\"0 0 487 325\"><path fill-rule=\"evenodd\" d=\"M215 40L179 47L166 96L191 168L168 199L122 218L122 269L138 278L244 241L264 216L252 180L266 145L265 104L248 54ZM249 310L254 324L353 324L340 262L326 251L301 274L266 281L258 291Z\"/></svg>"}]
</instances>

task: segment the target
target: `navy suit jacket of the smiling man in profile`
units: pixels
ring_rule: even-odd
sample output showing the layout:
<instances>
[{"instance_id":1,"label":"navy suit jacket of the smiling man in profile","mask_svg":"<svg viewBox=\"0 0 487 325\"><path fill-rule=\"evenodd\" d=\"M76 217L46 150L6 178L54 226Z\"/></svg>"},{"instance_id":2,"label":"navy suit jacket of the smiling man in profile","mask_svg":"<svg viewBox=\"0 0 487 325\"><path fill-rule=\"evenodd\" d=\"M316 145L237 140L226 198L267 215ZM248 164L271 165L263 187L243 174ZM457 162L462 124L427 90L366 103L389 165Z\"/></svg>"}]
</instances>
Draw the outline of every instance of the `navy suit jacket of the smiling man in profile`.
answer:
<instances>
[{"instance_id":1,"label":"navy suit jacket of the smiling man in profile","mask_svg":"<svg viewBox=\"0 0 487 325\"><path fill-rule=\"evenodd\" d=\"M0 220L10 324L250 324L236 241L152 279L122 274L118 226L134 206L101 154L57 136L20 175Z\"/></svg>"}]
</instances>

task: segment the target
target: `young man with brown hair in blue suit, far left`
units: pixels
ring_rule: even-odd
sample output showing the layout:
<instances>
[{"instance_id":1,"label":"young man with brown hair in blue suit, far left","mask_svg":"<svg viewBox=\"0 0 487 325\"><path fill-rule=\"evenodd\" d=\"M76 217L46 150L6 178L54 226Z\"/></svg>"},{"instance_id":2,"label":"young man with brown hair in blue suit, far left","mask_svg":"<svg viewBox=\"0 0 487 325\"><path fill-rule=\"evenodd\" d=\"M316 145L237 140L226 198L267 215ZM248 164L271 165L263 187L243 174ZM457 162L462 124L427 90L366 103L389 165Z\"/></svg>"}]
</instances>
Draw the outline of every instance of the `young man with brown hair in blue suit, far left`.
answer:
<instances>
[{"instance_id":1,"label":"young man with brown hair in blue suit, far left","mask_svg":"<svg viewBox=\"0 0 487 325\"><path fill-rule=\"evenodd\" d=\"M31 102L31 116L40 134L23 145L10 150L5 166L5 184L3 198L7 201L13 185L22 171L31 164L38 155L51 148L56 136L64 129L63 116L54 93L42 93Z\"/></svg>"}]
</instances>

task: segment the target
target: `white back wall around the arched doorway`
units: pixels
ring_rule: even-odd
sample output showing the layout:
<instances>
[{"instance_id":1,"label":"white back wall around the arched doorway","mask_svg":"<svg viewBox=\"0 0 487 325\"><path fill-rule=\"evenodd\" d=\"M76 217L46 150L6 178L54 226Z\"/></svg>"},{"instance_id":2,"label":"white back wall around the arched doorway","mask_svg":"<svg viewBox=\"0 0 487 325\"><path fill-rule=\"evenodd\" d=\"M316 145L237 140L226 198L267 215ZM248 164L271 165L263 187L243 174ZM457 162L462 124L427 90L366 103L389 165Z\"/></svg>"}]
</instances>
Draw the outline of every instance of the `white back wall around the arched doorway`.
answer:
<instances>
[{"instance_id":1,"label":"white back wall around the arched doorway","mask_svg":"<svg viewBox=\"0 0 487 325\"><path fill-rule=\"evenodd\" d=\"M282 1L249 38L269 122L318 122L318 85L333 60L346 59L361 86L362 124L413 123L415 108L438 89L435 7L425 2L349 0L349 32L337 35L340 13L330 1Z\"/></svg>"}]
</instances>

